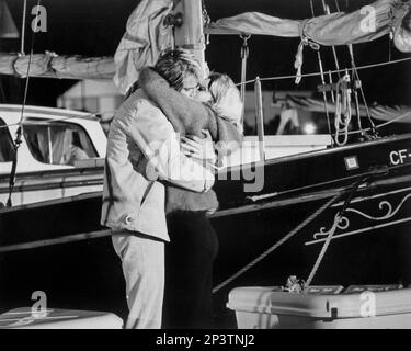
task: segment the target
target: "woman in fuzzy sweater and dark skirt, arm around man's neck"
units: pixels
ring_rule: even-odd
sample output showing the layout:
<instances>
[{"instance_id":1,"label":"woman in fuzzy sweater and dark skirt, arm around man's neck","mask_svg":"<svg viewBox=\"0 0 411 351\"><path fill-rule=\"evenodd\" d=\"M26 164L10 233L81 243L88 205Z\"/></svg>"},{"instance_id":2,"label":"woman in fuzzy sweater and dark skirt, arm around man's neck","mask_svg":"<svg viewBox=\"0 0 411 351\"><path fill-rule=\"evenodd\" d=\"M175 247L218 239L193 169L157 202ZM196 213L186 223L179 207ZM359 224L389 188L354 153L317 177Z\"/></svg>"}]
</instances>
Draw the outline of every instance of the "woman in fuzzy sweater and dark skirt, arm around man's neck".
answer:
<instances>
[{"instance_id":1,"label":"woman in fuzzy sweater and dark skirt, arm around man's neck","mask_svg":"<svg viewBox=\"0 0 411 351\"><path fill-rule=\"evenodd\" d=\"M167 73L161 69L146 68L140 73L139 84L160 106L174 129L183 135L182 147L189 155L192 152L201 158L202 148L196 143L206 144L209 138L216 143L219 160L239 147L242 102L228 76L210 75L208 94L196 94L194 87L186 91L182 88L179 93L169 88L162 76L167 77ZM208 101L201 103L193 100L195 95ZM171 184L167 188L171 245L165 249L165 328L212 327L212 274L218 239L207 213L217 207L213 190L194 193Z\"/></svg>"}]
</instances>

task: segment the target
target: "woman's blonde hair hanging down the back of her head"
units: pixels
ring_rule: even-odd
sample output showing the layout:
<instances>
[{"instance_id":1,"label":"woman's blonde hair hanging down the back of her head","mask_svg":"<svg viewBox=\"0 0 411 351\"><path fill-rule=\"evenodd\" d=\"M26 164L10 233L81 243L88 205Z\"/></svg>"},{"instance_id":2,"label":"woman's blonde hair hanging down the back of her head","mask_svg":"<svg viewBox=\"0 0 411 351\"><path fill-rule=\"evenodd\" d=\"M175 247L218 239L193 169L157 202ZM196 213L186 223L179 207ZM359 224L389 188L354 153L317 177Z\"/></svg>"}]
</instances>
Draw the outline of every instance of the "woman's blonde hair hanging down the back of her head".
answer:
<instances>
[{"instance_id":1,"label":"woman's blonde hair hanging down the back of her head","mask_svg":"<svg viewBox=\"0 0 411 351\"><path fill-rule=\"evenodd\" d=\"M229 120L242 134L243 103L240 92L231 78L224 73L210 73L208 91L216 112Z\"/></svg>"}]
</instances>

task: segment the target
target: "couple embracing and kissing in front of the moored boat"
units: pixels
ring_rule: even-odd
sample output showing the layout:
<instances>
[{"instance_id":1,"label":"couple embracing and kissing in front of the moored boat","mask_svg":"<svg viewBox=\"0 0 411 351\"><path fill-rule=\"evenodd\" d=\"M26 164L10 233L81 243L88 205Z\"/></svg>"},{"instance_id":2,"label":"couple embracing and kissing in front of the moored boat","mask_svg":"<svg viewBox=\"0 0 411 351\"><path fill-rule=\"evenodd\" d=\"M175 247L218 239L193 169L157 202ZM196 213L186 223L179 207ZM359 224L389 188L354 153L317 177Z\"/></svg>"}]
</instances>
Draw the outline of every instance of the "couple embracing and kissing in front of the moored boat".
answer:
<instances>
[{"instance_id":1,"label":"couple embracing and kissing in front of the moored boat","mask_svg":"<svg viewBox=\"0 0 411 351\"><path fill-rule=\"evenodd\" d=\"M207 214L217 165L242 139L242 102L228 76L203 81L192 54L167 52L110 128L101 222L122 260L126 328L213 327L218 240Z\"/></svg>"}]
</instances>

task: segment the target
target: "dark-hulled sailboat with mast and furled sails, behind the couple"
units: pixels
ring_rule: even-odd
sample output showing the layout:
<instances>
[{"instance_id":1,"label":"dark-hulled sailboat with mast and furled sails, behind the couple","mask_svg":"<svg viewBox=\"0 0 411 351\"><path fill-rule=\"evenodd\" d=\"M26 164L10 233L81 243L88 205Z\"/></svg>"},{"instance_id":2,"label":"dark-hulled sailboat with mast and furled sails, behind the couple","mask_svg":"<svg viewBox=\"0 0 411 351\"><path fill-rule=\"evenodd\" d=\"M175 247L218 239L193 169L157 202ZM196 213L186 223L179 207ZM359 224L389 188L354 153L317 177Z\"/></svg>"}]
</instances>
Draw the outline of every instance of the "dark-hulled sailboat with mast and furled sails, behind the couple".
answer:
<instances>
[{"instance_id":1,"label":"dark-hulled sailboat with mast and furled sails, behind the couple","mask_svg":"<svg viewBox=\"0 0 411 351\"><path fill-rule=\"evenodd\" d=\"M410 15L410 1L373 3L376 27L370 32L358 31L367 15L362 10L301 21L243 13L209 23L201 1L182 0L175 8L172 1L151 2L156 4L159 8L152 19L160 25L160 42L139 50L140 60L133 56L133 43L125 35L116 61L106 61L109 69L94 66L94 59L89 59L87 72L73 77L90 78L94 68L99 69L96 78L112 77L113 65L117 65L118 87L126 90L128 80L138 76L139 67L130 63L152 63L156 49L163 45L190 48L205 65L206 35L300 37L294 77L297 81L304 78L302 52L307 46L352 45L387 35L395 29L398 47L410 49L410 31L402 25ZM145 7L136 12L141 9ZM44 69L36 75L58 76L56 68L50 70L57 67L55 59L49 55ZM0 72L12 71L11 60L0 59ZM82 59L77 57L75 61ZM65 71L69 73L70 70ZM251 159L244 161L240 157L220 171L215 185L220 207L210 216L220 241L214 293L216 316L224 326L233 326L233 313L226 308L226 303L235 286L282 285L290 274L309 276L311 282L326 285L404 286L410 282L407 250L411 241L407 234L411 220L411 135L379 136L368 113L368 125L363 127L357 68L353 65L340 73L339 81L323 82L320 90L323 95L333 92L340 101L335 104L334 127L316 147L310 141L308 148L297 152L289 145L286 151L278 151L279 139L264 135L261 79L253 80L255 152ZM357 129L349 131L354 116ZM111 247L110 230L99 224L100 210L101 193L0 210L0 301L16 306L41 286L64 306L106 309L111 302L114 312L124 314L124 282ZM310 274L313 267L315 279Z\"/></svg>"}]
</instances>

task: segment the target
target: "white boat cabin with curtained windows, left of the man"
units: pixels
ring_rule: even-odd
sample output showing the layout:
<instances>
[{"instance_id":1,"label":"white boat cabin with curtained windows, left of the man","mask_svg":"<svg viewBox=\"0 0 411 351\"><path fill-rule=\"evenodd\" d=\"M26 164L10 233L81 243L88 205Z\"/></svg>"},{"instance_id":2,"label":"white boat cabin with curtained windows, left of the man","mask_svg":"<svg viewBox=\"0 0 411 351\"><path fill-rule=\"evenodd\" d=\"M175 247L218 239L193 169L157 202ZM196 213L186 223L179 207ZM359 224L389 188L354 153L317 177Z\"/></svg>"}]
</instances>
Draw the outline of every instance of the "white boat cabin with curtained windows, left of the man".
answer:
<instances>
[{"instance_id":1,"label":"white boat cabin with curtained windows, left of the man","mask_svg":"<svg viewBox=\"0 0 411 351\"><path fill-rule=\"evenodd\" d=\"M9 197L21 110L21 105L0 104L0 203L3 205ZM102 173L106 148L106 136L98 117L38 106L26 106L24 117L12 205L101 191L101 180L94 179L89 186L89 173L95 173L91 169Z\"/></svg>"}]
</instances>

